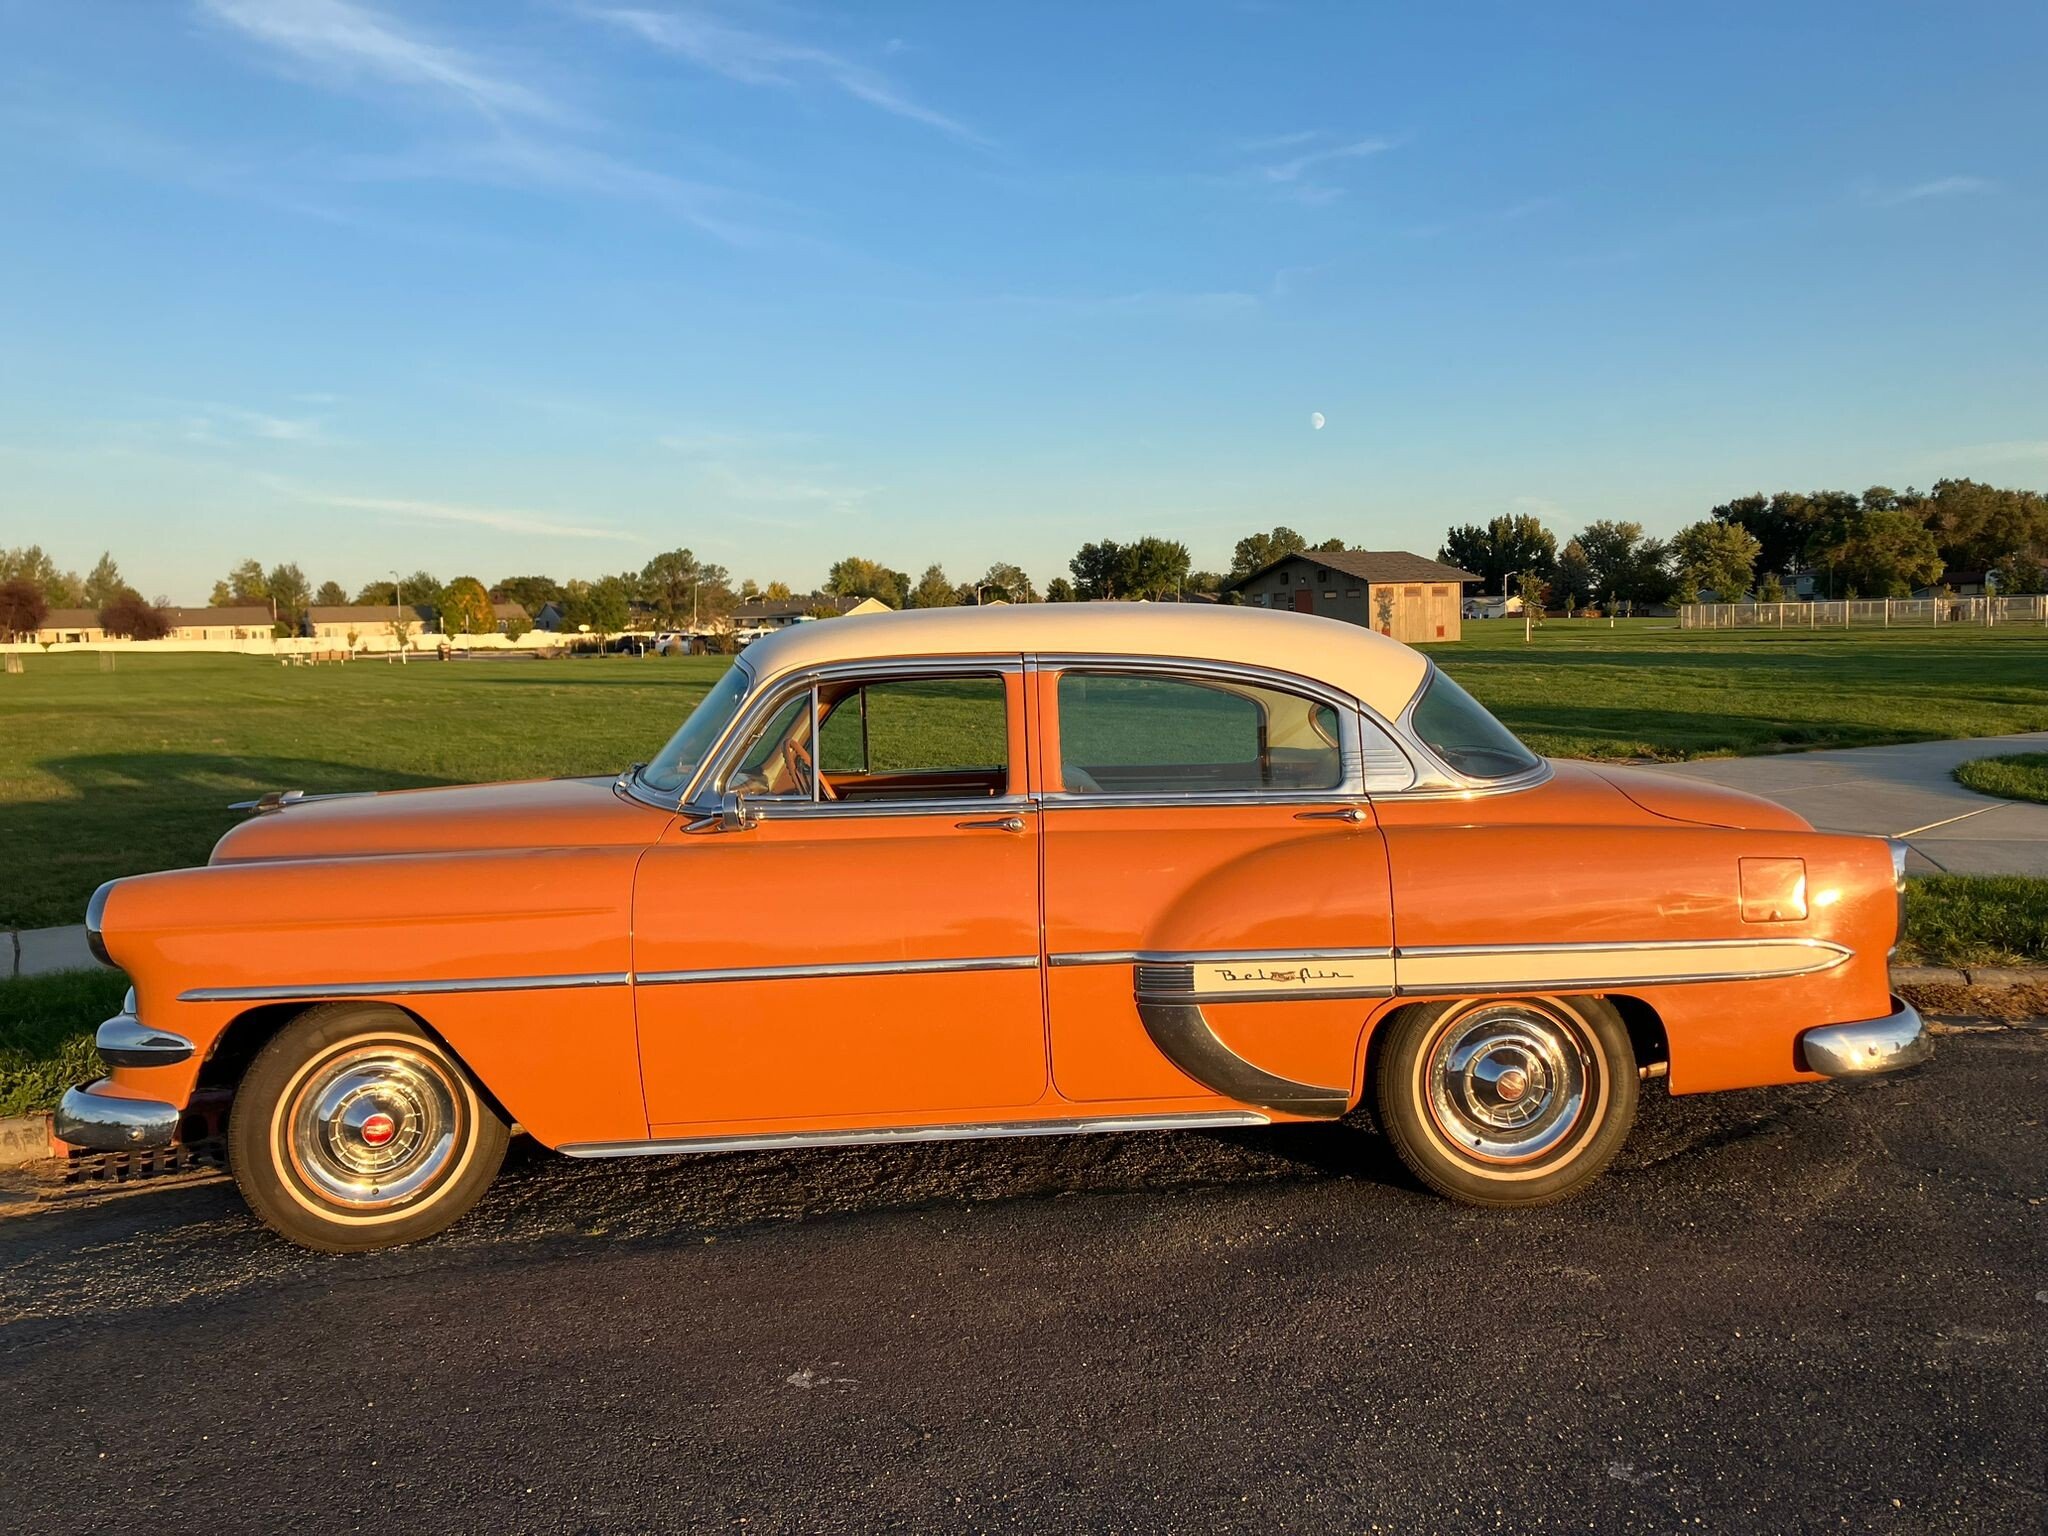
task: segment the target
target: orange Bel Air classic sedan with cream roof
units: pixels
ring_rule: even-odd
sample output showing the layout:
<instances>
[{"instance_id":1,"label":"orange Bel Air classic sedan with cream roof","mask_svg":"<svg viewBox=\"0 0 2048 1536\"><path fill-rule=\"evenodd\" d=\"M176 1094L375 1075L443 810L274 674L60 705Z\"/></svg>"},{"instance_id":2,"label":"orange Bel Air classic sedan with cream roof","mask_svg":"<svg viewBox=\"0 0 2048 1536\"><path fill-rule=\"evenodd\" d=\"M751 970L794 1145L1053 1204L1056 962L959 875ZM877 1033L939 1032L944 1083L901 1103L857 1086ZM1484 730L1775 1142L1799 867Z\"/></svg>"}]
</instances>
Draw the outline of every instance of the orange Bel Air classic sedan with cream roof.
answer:
<instances>
[{"instance_id":1,"label":"orange Bel Air classic sedan with cream roof","mask_svg":"<svg viewBox=\"0 0 2048 1536\"><path fill-rule=\"evenodd\" d=\"M573 1157L1327 1120L1520 1206L1640 1083L1890 1071L1903 846L1546 762L1421 653L1251 608L799 625L614 778L270 795L92 897L133 979L57 1135L227 1108L309 1247ZM401 895L399 895L401 893Z\"/></svg>"}]
</instances>

